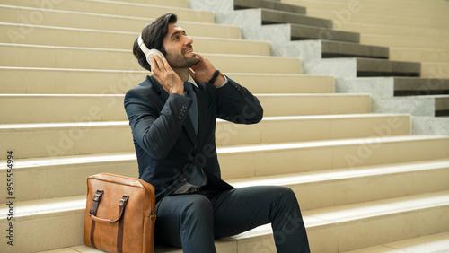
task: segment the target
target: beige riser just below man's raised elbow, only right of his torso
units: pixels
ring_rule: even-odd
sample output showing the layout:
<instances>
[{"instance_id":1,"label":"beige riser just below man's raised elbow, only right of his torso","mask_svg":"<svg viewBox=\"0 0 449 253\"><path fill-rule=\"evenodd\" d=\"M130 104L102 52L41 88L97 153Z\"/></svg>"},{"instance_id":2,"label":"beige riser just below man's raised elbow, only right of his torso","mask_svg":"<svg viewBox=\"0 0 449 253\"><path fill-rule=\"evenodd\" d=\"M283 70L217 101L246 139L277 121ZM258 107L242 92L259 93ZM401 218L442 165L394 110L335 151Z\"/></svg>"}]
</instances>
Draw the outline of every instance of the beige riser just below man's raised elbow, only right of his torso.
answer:
<instances>
[{"instance_id":1,"label":"beige riser just below man's raised elbow, only right of his torso","mask_svg":"<svg viewBox=\"0 0 449 253\"><path fill-rule=\"evenodd\" d=\"M392 125L392 122L395 122L395 126L398 127L394 127L390 135L409 135L410 119L407 116L365 119L267 120L254 126L219 122L216 127L216 144L225 146L363 138L376 135L376 131L380 129L379 126ZM348 131L348 126L351 127L351 131Z\"/></svg>"}]
</instances>

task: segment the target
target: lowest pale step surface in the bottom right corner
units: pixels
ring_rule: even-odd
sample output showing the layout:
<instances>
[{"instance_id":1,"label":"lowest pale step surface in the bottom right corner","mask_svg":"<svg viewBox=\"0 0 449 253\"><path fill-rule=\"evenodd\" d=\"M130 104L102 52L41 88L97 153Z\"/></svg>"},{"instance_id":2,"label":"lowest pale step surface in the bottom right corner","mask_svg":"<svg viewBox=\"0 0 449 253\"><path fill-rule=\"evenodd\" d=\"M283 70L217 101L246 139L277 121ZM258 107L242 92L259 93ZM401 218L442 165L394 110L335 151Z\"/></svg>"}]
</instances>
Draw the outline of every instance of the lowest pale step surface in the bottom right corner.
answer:
<instances>
[{"instance_id":1,"label":"lowest pale step surface in the bottom right corner","mask_svg":"<svg viewBox=\"0 0 449 253\"><path fill-rule=\"evenodd\" d=\"M449 232L440 232L432 235L422 236L384 243L383 245L368 247L364 249L355 249L344 253L381 253L392 251L409 253L435 253L449 252Z\"/></svg>"}]
</instances>

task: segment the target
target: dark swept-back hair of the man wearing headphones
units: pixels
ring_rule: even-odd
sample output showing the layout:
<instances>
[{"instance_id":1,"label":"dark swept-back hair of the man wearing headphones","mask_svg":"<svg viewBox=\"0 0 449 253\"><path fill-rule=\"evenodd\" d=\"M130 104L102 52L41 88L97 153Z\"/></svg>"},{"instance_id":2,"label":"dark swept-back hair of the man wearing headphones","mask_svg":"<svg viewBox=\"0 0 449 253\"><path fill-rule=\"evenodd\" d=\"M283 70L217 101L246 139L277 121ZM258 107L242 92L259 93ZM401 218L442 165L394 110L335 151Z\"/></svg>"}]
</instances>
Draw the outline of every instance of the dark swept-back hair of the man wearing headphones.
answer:
<instances>
[{"instance_id":1,"label":"dark swept-back hair of the man wearing headphones","mask_svg":"<svg viewBox=\"0 0 449 253\"><path fill-rule=\"evenodd\" d=\"M144 40L146 48L158 49L165 56L167 52L165 51L165 48L163 48L163 38L167 35L168 25L170 23L176 23L177 21L178 17L175 14L167 13L157 18L154 22L146 24L144 29L142 29L142 39ZM139 48L137 39L134 41L133 54L137 58L139 65L151 71L151 66L146 61L144 52Z\"/></svg>"}]
</instances>

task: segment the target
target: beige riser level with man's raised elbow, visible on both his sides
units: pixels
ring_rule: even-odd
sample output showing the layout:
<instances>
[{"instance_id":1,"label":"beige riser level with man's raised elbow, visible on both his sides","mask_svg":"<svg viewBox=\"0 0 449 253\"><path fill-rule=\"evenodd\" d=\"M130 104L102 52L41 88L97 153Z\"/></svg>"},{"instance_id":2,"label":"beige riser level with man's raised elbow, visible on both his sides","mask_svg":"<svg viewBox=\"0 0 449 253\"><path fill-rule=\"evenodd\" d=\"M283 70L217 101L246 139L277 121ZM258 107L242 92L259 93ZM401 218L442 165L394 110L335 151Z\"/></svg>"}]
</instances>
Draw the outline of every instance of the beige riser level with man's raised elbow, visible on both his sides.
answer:
<instances>
[{"instance_id":1,"label":"beige riser level with man's raised elbow, visible on both his sides","mask_svg":"<svg viewBox=\"0 0 449 253\"><path fill-rule=\"evenodd\" d=\"M370 97L367 95L259 95L258 98L264 108L264 116L370 112ZM124 95L40 98L5 96L0 100L0 106L5 109L0 124L128 120L123 99Z\"/></svg>"}]
</instances>

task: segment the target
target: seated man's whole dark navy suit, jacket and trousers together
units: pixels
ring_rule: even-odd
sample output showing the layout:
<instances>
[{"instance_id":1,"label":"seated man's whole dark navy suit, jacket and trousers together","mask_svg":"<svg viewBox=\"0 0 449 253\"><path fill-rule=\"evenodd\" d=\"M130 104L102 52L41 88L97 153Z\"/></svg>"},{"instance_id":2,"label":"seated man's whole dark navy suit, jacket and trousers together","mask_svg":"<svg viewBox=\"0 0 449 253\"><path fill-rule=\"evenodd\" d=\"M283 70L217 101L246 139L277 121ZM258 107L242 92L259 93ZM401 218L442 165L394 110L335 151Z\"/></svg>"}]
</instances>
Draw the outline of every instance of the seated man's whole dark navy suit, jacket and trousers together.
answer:
<instances>
[{"instance_id":1,"label":"seated man's whole dark navy suit, jacket and trousers together","mask_svg":"<svg viewBox=\"0 0 449 253\"><path fill-rule=\"evenodd\" d=\"M220 88L208 83L197 83L194 88L198 135L189 118L192 100L169 95L153 77L148 76L125 96L139 179L156 189L155 239L182 247L184 252L216 252L215 238L271 222L278 252L309 252L293 191L285 187L233 188L221 179L216 118L255 124L263 117L259 100L227 79ZM207 185L194 194L172 195L198 174L195 167L204 171Z\"/></svg>"}]
</instances>

